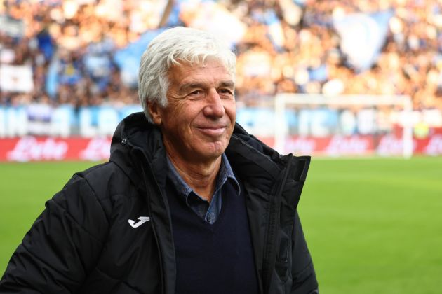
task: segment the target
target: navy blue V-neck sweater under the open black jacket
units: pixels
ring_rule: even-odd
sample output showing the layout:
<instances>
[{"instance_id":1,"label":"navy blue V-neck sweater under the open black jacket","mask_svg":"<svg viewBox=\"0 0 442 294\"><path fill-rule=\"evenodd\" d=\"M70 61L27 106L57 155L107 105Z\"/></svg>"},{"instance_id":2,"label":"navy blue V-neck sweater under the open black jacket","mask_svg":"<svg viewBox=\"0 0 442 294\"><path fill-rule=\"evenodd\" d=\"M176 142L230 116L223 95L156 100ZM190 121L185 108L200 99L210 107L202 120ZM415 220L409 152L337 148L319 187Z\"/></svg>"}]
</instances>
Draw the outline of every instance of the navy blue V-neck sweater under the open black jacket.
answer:
<instances>
[{"instance_id":1,"label":"navy blue V-neck sweater under the open black jacket","mask_svg":"<svg viewBox=\"0 0 442 294\"><path fill-rule=\"evenodd\" d=\"M187 207L169 181L177 294L258 293L245 197L227 181L213 225Z\"/></svg>"}]
</instances>

